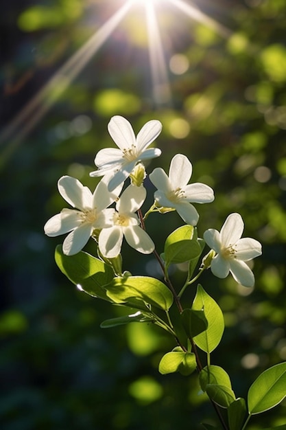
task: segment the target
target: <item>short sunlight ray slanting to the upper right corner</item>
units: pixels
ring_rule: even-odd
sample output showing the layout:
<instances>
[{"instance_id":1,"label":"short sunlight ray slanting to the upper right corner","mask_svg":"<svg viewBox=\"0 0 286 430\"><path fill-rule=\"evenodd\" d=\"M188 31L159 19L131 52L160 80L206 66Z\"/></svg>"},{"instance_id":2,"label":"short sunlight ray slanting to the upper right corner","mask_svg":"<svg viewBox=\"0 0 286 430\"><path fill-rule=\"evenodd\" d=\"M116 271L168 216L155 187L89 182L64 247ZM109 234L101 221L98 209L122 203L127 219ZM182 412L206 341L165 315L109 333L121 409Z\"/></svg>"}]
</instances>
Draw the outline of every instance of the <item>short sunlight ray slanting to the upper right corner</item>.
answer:
<instances>
[{"instance_id":1,"label":"short sunlight ray slanting to the upper right corner","mask_svg":"<svg viewBox=\"0 0 286 430\"><path fill-rule=\"evenodd\" d=\"M175 5L182 12L190 16L191 19L207 25L225 38L228 38L233 34L233 32L227 27L218 23L215 21L215 19L210 18L208 15L204 14L204 12L195 8L194 6L184 3L182 0L169 0L169 3Z\"/></svg>"}]
</instances>

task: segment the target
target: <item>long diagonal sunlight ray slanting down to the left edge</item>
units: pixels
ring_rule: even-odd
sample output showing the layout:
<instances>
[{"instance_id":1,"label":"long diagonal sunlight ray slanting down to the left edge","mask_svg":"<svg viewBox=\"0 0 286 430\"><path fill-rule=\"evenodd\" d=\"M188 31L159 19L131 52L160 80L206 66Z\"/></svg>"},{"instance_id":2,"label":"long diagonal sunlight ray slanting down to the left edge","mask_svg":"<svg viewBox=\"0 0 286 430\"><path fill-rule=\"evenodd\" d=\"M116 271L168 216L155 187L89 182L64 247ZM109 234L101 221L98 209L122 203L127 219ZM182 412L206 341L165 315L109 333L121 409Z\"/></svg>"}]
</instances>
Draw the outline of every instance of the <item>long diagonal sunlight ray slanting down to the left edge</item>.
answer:
<instances>
[{"instance_id":1,"label":"long diagonal sunlight ray slanting down to the left edge","mask_svg":"<svg viewBox=\"0 0 286 430\"><path fill-rule=\"evenodd\" d=\"M106 39L112 34L115 28L126 16L132 0L124 3L124 5L113 14L106 23L91 38L78 49L69 60L44 85L40 91L30 100L27 105L16 115L14 120L8 124L0 134L0 144L10 140L8 148L5 150L6 158L10 155L16 146L27 136L27 134L38 124L42 117L49 111L51 106L56 103L60 95L71 84L71 82L84 69L92 56L104 44Z\"/></svg>"}]
</instances>

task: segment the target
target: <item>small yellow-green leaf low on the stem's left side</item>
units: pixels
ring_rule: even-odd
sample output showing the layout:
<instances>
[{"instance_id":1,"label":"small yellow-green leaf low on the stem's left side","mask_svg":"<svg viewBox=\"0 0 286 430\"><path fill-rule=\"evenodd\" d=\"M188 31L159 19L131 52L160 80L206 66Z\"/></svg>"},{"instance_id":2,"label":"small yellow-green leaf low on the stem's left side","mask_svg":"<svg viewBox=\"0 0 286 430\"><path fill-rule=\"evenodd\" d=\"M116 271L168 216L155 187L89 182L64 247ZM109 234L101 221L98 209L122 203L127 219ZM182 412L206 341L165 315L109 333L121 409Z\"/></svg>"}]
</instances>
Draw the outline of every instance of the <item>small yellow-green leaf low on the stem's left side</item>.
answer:
<instances>
[{"instance_id":1,"label":"small yellow-green leaf low on the stem's left side","mask_svg":"<svg viewBox=\"0 0 286 430\"><path fill-rule=\"evenodd\" d=\"M180 374L188 376L193 373L196 366L193 352L184 352L182 348L175 348L162 357L159 363L159 372L163 375L180 372Z\"/></svg>"}]
</instances>

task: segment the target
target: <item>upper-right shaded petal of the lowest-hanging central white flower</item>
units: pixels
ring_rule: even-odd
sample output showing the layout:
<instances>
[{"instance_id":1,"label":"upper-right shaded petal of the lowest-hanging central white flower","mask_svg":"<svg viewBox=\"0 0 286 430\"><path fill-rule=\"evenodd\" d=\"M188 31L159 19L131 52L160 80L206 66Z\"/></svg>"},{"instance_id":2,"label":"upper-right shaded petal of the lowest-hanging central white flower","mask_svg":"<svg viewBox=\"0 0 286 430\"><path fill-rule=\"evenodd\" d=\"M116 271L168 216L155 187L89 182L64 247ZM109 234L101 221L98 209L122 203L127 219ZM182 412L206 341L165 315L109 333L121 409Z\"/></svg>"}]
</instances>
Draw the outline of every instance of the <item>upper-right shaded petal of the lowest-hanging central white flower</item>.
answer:
<instances>
[{"instance_id":1,"label":"upper-right shaded petal of the lowest-hanging central white flower","mask_svg":"<svg viewBox=\"0 0 286 430\"><path fill-rule=\"evenodd\" d=\"M136 187L134 185L129 185L116 203L117 211L123 214L136 212L143 205L146 194L147 192L143 186Z\"/></svg>"}]
</instances>

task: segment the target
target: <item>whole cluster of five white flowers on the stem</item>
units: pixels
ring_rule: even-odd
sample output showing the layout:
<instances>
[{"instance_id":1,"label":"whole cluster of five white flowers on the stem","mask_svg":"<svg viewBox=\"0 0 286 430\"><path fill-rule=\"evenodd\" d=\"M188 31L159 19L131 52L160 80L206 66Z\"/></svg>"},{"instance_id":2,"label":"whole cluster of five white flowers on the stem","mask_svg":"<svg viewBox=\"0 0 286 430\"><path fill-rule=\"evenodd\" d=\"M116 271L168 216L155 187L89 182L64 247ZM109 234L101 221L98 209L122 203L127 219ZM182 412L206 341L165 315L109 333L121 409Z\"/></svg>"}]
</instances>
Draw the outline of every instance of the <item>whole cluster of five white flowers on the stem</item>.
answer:
<instances>
[{"instance_id":1,"label":"whole cluster of five white flowers on the stem","mask_svg":"<svg viewBox=\"0 0 286 430\"><path fill-rule=\"evenodd\" d=\"M135 136L126 118L112 117L108 132L118 148L104 148L97 152L97 170L91 177L102 177L94 192L78 179L64 176L58 181L58 190L73 209L63 209L45 224L47 236L67 234L62 250L67 256L78 253L92 236L98 242L105 258L116 258L121 253L123 237L132 248L149 254L154 242L142 225L141 207L146 199L143 180L145 160L159 157L158 148L148 148L158 137L162 124L157 120L147 122ZM157 188L154 205L148 211L161 213L176 210L188 225L197 225L199 214L191 203L211 203L213 190L203 183L191 183L192 165L182 154L173 157L169 175L162 168L155 168L149 175ZM126 179L130 185L123 190ZM122 192L123 190L123 192ZM112 206L112 207L111 207ZM204 240L211 249L211 271L219 278L232 273L235 280L245 286L254 284L254 275L246 261L261 254L261 244L251 238L241 239L243 220L239 214L226 219L220 233L208 229Z\"/></svg>"}]
</instances>

